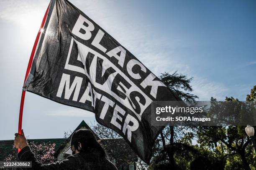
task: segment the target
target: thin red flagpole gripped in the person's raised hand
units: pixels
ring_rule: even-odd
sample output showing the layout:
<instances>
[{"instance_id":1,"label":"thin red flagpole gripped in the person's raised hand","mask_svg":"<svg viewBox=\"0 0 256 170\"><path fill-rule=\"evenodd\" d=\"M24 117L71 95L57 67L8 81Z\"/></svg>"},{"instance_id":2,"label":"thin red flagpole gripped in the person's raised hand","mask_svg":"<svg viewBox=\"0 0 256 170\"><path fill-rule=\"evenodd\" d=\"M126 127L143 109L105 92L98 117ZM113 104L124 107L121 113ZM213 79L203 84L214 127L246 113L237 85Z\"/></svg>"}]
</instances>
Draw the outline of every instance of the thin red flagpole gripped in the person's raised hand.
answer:
<instances>
[{"instance_id":1,"label":"thin red flagpole gripped in the person's raised hand","mask_svg":"<svg viewBox=\"0 0 256 170\"><path fill-rule=\"evenodd\" d=\"M24 85L25 85L25 82L28 78L29 72L31 70L31 65L32 65L32 62L33 62L33 58L34 58L35 51L36 51L36 46L38 44L38 40L40 38L41 32L45 31L45 30L42 31L42 29L44 28L46 17L47 17L48 11L49 11L49 6L50 5L48 5L48 7L47 7L47 10L44 14L44 18L43 18L43 21L41 23L40 29L39 29L39 31L36 35L36 40L35 40L35 43L34 43L34 46L33 46L29 61L28 61L28 67L27 67L27 71L26 71L26 75L25 75ZM21 94L21 100L20 100L20 114L19 114L19 125L18 125L18 133L20 135L21 135L21 129L22 129L22 116L23 116L23 106L24 106L25 94L26 94L26 87L23 87L23 91L22 91L22 94ZM20 152L20 148L18 148L18 153L19 152Z\"/></svg>"}]
</instances>

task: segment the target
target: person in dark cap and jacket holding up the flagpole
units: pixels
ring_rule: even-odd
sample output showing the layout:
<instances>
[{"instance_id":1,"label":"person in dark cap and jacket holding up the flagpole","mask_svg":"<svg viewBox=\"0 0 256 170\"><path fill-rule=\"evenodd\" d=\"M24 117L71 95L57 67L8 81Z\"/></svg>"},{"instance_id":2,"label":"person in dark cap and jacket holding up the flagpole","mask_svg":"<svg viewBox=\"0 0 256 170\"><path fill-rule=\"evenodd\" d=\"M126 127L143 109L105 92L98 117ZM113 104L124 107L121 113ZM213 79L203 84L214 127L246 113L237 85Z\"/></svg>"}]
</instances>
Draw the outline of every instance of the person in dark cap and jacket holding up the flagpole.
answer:
<instances>
[{"instance_id":1,"label":"person in dark cap and jacket holding up the flagpole","mask_svg":"<svg viewBox=\"0 0 256 170\"><path fill-rule=\"evenodd\" d=\"M61 162L50 164L39 163L22 130L22 135L15 133L14 146L20 148L20 161L31 161L29 170L117 170L105 155L105 151L95 139L90 130L77 130L71 138L72 155Z\"/></svg>"}]
</instances>

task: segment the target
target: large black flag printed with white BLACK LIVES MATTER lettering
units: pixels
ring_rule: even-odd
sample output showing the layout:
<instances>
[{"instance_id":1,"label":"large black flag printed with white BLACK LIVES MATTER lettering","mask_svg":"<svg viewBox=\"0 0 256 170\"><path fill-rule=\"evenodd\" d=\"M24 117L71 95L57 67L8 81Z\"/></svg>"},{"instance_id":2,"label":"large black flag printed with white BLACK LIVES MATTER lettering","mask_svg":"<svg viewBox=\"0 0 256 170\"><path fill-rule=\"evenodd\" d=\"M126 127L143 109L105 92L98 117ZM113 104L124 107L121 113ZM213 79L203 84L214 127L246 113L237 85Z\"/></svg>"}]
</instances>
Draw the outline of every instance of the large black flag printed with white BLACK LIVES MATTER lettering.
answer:
<instances>
[{"instance_id":1,"label":"large black flag printed with white BLACK LIVES MATTER lettering","mask_svg":"<svg viewBox=\"0 0 256 170\"><path fill-rule=\"evenodd\" d=\"M97 122L120 134L146 163L164 128L151 126L151 102L179 100L131 52L67 0L50 2L24 87L94 112Z\"/></svg>"}]
</instances>

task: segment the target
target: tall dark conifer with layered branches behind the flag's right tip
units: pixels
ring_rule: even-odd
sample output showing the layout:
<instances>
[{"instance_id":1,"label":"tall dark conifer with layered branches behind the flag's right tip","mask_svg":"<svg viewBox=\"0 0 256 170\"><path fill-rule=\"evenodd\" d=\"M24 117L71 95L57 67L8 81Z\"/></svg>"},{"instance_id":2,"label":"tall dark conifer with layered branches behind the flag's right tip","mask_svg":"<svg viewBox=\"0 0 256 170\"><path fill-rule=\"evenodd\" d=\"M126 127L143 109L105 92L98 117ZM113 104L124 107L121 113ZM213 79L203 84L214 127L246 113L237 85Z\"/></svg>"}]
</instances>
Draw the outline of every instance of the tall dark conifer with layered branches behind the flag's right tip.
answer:
<instances>
[{"instance_id":1,"label":"tall dark conifer with layered branches behind the flag's right tip","mask_svg":"<svg viewBox=\"0 0 256 170\"><path fill-rule=\"evenodd\" d=\"M189 84L192 81L191 78L187 78L187 75L177 74L177 71L170 75L165 72L160 75L160 80L174 92L180 99L193 102L198 97L191 94L192 87ZM183 140L190 140L190 143L185 143ZM181 169L184 165L183 159L191 159L192 153L198 153L193 148L191 139L192 133L189 133L189 127L174 127L166 126L156 139L154 146L154 156L151 161L150 168L154 170L161 169ZM186 165L188 166L188 164Z\"/></svg>"}]
</instances>

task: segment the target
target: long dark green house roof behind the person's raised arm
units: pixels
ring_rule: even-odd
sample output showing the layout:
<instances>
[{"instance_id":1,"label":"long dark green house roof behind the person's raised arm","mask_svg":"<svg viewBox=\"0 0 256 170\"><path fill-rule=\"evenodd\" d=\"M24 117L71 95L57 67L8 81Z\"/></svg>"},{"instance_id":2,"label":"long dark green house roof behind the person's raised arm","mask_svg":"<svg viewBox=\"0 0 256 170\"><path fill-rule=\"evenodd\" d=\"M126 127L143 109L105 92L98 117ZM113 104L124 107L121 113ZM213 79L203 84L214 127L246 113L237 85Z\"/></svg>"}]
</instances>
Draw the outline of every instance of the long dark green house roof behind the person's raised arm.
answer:
<instances>
[{"instance_id":1,"label":"long dark green house roof behind the person's raised arm","mask_svg":"<svg viewBox=\"0 0 256 170\"><path fill-rule=\"evenodd\" d=\"M55 143L55 149L59 148L66 139L28 139L28 142L40 143ZM13 140L0 140L0 161L3 161L8 155L13 153Z\"/></svg>"}]
</instances>

